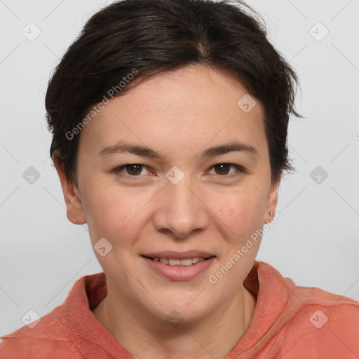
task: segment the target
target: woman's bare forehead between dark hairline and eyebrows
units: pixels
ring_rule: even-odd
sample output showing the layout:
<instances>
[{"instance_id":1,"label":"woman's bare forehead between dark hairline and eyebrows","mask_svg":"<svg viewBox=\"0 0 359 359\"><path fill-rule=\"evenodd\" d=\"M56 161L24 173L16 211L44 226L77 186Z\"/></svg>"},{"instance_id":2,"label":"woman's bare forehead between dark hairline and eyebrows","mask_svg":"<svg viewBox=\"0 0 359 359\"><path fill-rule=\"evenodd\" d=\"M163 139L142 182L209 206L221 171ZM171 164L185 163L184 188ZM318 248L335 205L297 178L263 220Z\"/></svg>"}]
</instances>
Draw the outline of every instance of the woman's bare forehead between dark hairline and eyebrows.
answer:
<instances>
[{"instance_id":1,"label":"woman's bare forehead between dark hairline and eyebrows","mask_svg":"<svg viewBox=\"0 0 359 359\"><path fill-rule=\"evenodd\" d=\"M264 139L262 116L262 105L231 76L209 67L185 67L114 97L83 130L81 142L98 151L129 137L172 150L178 144L198 147L224 140L256 146Z\"/></svg>"}]
</instances>

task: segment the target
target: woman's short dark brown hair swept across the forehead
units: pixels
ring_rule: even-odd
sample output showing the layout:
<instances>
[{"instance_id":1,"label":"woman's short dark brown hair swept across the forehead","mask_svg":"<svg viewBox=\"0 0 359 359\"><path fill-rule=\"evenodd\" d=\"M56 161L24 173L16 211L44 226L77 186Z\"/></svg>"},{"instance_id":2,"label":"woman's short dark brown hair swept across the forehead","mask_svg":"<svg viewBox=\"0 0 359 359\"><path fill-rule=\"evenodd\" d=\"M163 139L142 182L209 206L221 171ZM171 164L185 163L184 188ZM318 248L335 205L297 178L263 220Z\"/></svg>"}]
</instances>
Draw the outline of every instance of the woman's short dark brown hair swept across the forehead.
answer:
<instances>
[{"instance_id":1,"label":"woman's short dark brown hair swept across the forehead","mask_svg":"<svg viewBox=\"0 0 359 359\"><path fill-rule=\"evenodd\" d=\"M46 93L50 156L77 184L79 135L67 133L91 106L136 69L116 95L156 74L207 65L231 74L264 107L271 179L292 170L287 126L297 76L266 38L260 16L241 0L122 0L95 13L55 68ZM128 81L127 81L128 82ZM77 133L78 131L76 131Z\"/></svg>"}]
</instances>

